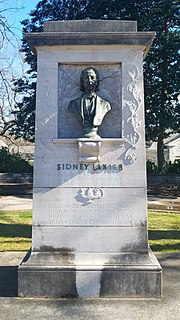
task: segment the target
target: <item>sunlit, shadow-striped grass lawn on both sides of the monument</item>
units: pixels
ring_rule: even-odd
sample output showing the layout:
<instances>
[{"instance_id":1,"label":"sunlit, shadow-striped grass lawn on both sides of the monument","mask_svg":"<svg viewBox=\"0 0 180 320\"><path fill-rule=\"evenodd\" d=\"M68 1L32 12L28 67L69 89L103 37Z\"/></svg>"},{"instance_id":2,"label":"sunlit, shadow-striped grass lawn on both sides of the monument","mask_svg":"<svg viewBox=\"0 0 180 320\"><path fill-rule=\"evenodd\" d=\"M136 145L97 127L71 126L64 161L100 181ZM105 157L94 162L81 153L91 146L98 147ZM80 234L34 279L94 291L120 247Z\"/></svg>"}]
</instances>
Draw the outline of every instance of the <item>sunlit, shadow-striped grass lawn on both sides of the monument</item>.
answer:
<instances>
[{"instance_id":1,"label":"sunlit, shadow-striped grass lawn on both sides of the monument","mask_svg":"<svg viewBox=\"0 0 180 320\"><path fill-rule=\"evenodd\" d=\"M0 251L28 251L31 211L0 211ZM180 214L149 213L149 244L154 252L180 251Z\"/></svg>"}]
</instances>

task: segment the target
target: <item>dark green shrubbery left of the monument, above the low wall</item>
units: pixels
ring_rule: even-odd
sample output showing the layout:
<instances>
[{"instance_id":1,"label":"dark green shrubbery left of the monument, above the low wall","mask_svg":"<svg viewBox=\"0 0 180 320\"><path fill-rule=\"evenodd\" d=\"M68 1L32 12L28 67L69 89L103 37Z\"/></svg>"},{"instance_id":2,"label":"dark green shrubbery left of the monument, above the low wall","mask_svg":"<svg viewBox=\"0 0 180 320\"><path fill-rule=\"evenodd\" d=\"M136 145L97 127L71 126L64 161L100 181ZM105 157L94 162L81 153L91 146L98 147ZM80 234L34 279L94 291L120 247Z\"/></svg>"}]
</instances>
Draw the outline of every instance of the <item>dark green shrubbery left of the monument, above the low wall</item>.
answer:
<instances>
[{"instance_id":1,"label":"dark green shrubbery left of the monument, above the low wall","mask_svg":"<svg viewBox=\"0 0 180 320\"><path fill-rule=\"evenodd\" d=\"M7 148L0 149L1 173L30 173L33 167L18 155L10 154Z\"/></svg>"}]
</instances>

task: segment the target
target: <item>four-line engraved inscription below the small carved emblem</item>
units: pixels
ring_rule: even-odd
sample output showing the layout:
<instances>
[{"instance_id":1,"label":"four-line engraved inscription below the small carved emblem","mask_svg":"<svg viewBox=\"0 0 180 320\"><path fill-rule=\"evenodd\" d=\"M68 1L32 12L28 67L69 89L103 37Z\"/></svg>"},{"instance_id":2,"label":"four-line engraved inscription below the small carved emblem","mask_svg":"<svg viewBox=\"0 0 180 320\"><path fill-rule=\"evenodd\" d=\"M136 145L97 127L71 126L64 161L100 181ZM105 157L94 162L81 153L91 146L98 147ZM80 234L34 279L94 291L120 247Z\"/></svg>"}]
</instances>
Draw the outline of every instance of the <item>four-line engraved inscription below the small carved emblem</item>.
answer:
<instances>
[{"instance_id":1,"label":"four-line engraved inscription below the small carved emblem","mask_svg":"<svg viewBox=\"0 0 180 320\"><path fill-rule=\"evenodd\" d=\"M47 204L47 223L51 225L122 225L134 226L139 223L136 213L139 208L121 201L115 203L93 202L84 208L79 204Z\"/></svg>"}]
</instances>

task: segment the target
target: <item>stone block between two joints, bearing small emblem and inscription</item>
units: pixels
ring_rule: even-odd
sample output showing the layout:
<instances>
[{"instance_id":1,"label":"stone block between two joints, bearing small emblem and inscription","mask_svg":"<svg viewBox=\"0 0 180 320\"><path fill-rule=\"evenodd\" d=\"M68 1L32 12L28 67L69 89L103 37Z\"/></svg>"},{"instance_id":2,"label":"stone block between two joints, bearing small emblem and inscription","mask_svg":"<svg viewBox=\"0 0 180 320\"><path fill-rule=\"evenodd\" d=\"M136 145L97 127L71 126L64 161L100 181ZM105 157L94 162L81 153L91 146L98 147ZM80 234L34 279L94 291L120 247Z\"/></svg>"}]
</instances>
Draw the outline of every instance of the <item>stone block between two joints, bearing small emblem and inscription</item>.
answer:
<instances>
[{"instance_id":1,"label":"stone block between two joints, bearing small emblem and inscription","mask_svg":"<svg viewBox=\"0 0 180 320\"><path fill-rule=\"evenodd\" d=\"M43 212L43 215L42 215ZM118 188L35 189L34 224L139 226L146 224L145 191Z\"/></svg>"}]
</instances>

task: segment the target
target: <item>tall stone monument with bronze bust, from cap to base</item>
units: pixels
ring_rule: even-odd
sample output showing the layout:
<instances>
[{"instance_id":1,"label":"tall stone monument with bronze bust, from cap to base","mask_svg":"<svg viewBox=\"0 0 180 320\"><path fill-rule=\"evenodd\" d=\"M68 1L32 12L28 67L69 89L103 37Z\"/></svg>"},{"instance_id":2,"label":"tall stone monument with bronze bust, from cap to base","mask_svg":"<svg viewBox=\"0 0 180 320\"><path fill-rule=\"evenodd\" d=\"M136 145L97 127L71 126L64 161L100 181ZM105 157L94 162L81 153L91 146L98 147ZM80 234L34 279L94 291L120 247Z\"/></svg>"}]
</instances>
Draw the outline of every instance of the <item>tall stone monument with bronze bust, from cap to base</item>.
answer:
<instances>
[{"instance_id":1,"label":"tall stone monument with bronze bust, from cap to base","mask_svg":"<svg viewBox=\"0 0 180 320\"><path fill-rule=\"evenodd\" d=\"M143 58L134 21L51 21L26 34L38 82L32 250L20 297L159 298L148 247Z\"/></svg>"}]
</instances>

